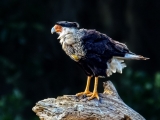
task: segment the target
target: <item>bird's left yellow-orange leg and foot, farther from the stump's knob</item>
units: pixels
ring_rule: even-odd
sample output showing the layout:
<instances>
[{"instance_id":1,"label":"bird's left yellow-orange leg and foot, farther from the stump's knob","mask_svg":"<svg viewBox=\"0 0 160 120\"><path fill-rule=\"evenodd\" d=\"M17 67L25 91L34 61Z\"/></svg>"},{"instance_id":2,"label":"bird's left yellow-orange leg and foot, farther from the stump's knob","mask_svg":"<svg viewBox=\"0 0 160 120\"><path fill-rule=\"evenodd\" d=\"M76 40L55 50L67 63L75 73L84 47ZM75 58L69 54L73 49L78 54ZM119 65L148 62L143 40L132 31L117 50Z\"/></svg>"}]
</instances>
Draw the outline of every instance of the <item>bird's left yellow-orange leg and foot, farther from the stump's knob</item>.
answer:
<instances>
[{"instance_id":1,"label":"bird's left yellow-orange leg and foot, farther from the stump's knob","mask_svg":"<svg viewBox=\"0 0 160 120\"><path fill-rule=\"evenodd\" d=\"M88 76L88 78L87 78L87 85L86 85L85 91L77 93L76 96L88 95L88 94L92 93L92 92L89 91L90 81L91 81L91 76Z\"/></svg>"}]
</instances>

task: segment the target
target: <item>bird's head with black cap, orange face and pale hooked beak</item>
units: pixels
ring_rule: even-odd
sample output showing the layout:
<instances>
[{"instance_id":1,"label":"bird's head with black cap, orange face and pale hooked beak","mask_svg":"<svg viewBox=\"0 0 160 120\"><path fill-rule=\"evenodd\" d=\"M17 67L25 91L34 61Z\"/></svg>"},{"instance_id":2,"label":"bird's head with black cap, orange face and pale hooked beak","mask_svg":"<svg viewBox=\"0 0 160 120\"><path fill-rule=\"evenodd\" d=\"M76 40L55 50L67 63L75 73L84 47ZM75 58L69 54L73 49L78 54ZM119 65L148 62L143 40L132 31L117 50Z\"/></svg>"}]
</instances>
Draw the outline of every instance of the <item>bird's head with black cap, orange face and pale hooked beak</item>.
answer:
<instances>
[{"instance_id":1,"label":"bird's head with black cap, orange face and pale hooked beak","mask_svg":"<svg viewBox=\"0 0 160 120\"><path fill-rule=\"evenodd\" d=\"M77 22L68 22L68 21L59 21L54 27L51 29L51 33L58 33L59 35L74 32L79 28L79 24Z\"/></svg>"}]
</instances>

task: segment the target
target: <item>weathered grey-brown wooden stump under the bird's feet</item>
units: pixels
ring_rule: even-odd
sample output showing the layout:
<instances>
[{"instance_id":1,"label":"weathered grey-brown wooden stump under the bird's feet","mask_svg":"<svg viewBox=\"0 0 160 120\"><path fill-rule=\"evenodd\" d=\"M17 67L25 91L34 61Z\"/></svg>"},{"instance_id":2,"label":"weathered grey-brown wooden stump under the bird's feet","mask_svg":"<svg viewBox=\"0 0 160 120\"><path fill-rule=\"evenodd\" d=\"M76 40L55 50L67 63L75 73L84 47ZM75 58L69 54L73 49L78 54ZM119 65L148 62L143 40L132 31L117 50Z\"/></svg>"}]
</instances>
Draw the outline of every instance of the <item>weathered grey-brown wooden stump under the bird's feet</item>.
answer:
<instances>
[{"instance_id":1,"label":"weathered grey-brown wooden stump under the bird's feet","mask_svg":"<svg viewBox=\"0 0 160 120\"><path fill-rule=\"evenodd\" d=\"M111 81L103 86L100 100L64 95L39 101L32 110L41 120L145 120L122 101Z\"/></svg>"}]
</instances>

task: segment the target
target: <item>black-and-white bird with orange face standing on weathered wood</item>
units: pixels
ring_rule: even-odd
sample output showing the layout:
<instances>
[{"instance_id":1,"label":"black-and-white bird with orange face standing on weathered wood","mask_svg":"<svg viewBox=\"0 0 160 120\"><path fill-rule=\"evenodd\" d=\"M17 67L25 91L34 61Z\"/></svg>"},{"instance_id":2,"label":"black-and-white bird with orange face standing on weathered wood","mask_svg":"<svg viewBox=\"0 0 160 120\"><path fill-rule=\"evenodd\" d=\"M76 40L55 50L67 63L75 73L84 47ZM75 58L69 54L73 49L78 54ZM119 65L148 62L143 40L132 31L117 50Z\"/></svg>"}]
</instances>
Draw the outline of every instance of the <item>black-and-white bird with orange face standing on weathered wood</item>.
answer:
<instances>
[{"instance_id":1,"label":"black-and-white bird with orange face standing on weathered wood","mask_svg":"<svg viewBox=\"0 0 160 120\"><path fill-rule=\"evenodd\" d=\"M124 43L113 40L95 29L79 28L77 22L58 21L51 28L57 33L65 53L74 60L87 75L84 92L76 96L87 96L88 100L99 100L98 78L122 73L126 67L124 60L147 60L149 58L131 52ZM93 92L89 90L91 78L95 78Z\"/></svg>"}]
</instances>

